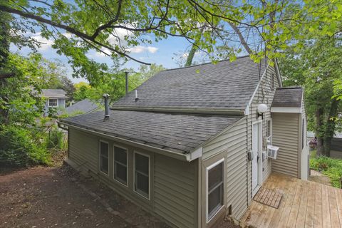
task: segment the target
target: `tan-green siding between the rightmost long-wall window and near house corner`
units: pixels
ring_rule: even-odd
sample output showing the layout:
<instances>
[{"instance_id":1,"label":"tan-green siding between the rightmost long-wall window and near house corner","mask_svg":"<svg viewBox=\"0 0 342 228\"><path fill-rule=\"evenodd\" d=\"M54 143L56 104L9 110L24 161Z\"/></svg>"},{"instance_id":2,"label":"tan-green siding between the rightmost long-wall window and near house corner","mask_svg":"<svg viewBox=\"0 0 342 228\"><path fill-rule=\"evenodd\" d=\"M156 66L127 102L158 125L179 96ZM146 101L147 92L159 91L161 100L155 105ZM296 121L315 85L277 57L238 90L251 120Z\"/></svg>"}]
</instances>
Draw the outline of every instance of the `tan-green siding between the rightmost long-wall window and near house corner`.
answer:
<instances>
[{"instance_id":1,"label":"tan-green siding between the rightmost long-wall window and near house corner","mask_svg":"<svg viewBox=\"0 0 342 228\"><path fill-rule=\"evenodd\" d=\"M155 155L155 212L177 227L196 227L194 177L195 162Z\"/></svg>"}]
</instances>

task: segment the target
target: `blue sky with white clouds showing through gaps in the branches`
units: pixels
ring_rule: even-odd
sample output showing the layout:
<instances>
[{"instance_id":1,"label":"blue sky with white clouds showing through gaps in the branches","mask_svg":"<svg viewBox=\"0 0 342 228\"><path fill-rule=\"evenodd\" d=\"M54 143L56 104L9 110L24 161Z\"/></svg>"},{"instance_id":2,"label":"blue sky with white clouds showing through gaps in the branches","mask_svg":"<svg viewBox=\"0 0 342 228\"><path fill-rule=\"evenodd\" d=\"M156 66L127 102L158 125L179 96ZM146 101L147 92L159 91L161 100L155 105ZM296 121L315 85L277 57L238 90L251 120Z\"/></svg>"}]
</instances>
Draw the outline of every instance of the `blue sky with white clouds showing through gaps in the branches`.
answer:
<instances>
[{"instance_id":1,"label":"blue sky with white clouds showing through gaps in the branches","mask_svg":"<svg viewBox=\"0 0 342 228\"><path fill-rule=\"evenodd\" d=\"M42 38L39 33L31 33L28 34L35 38L37 41L43 43L40 48L38 48L38 52L41 53L43 58L47 58L48 60L59 60L66 66L67 76L73 81L73 83L78 83L80 81L86 81L85 78L72 78L73 70L68 64L68 58L66 56L60 56L56 53L51 46L53 45L53 40L46 40ZM165 68L177 68L180 67L177 65L176 59L181 56L186 55L187 51L190 51L190 43L188 43L185 38L180 37L169 37L165 40L159 41L158 43L152 43L148 45L140 45L130 48L130 56L137 58L140 61L144 61L147 63L156 63L158 65L162 65ZM16 46L11 46L11 51L19 52L23 56L28 56L31 52L30 48L22 48L19 50ZM95 61L100 63L107 63L108 66L112 65L112 61L110 57L105 56L103 53L98 53L96 51L90 51L88 53L88 57L93 58ZM175 59L172 59L175 58ZM122 68L133 68L135 71L138 70L140 63L135 61L128 61Z\"/></svg>"}]
</instances>

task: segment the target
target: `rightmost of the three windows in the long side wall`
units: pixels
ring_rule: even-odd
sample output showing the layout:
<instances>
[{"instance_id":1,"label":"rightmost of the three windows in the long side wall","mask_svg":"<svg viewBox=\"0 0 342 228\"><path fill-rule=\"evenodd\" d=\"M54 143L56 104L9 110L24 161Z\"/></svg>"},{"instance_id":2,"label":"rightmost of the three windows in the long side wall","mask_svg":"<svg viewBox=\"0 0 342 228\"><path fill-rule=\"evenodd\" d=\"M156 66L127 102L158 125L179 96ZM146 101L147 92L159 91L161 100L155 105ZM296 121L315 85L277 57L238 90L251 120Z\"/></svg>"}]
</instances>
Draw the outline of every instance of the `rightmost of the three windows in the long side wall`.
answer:
<instances>
[{"instance_id":1,"label":"rightmost of the three windows in the long side wall","mask_svg":"<svg viewBox=\"0 0 342 228\"><path fill-rule=\"evenodd\" d=\"M150 157L134 154L134 190L143 197L150 197Z\"/></svg>"}]
</instances>

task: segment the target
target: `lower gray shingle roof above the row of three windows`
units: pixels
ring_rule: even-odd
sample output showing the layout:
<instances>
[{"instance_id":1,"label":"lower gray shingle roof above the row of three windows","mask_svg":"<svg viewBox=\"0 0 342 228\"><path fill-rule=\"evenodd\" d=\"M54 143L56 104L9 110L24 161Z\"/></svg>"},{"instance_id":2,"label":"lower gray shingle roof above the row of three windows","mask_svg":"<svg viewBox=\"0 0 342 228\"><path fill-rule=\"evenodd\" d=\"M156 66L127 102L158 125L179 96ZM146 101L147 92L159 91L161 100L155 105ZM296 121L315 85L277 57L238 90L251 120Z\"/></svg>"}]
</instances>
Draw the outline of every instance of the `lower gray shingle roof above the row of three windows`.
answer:
<instances>
[{"instance_id":1,"label":"lower gray shingle roof above the row of three windows","mask_svg":"<svg viewBox=\"0 0 342 228\"><path fill-rule=\"evenodd\" d=\"M242 118L127 110L110 110L110 119L103 121L103 117L103 111L99 111L66 118L61 122L165 150L187 153Z\"/></svg>"}]
</instances>

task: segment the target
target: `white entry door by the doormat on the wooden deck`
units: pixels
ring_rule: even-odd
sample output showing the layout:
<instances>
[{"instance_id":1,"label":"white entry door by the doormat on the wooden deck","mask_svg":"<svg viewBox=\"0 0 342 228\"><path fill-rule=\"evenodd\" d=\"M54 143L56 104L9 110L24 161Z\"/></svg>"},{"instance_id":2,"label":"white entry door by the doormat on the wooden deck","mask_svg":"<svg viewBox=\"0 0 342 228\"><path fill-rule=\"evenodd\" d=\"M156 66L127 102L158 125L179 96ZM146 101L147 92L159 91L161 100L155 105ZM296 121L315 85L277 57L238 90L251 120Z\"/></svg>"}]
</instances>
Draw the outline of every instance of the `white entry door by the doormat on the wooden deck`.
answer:
<instances>
[{"instance_id":1,"label":"white entry door by the doormat on the wooden deck","mask_svg":"<svg viewBox=\"0 0 342 228\"><path fill-rule=\"evenodd\" d=\"M261 150L261 123L253 124L253 133L252 133L252 152L253 152L253 160L252 160L252 195L254 197L257 194L260 187L260 165L261 159L258 158Z\"/></svg>"}]
</instances>

